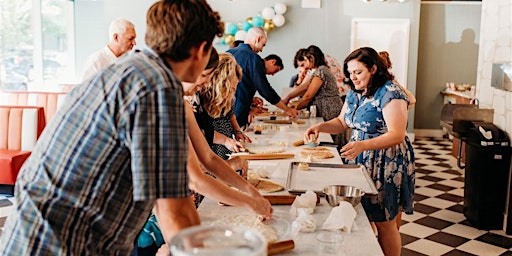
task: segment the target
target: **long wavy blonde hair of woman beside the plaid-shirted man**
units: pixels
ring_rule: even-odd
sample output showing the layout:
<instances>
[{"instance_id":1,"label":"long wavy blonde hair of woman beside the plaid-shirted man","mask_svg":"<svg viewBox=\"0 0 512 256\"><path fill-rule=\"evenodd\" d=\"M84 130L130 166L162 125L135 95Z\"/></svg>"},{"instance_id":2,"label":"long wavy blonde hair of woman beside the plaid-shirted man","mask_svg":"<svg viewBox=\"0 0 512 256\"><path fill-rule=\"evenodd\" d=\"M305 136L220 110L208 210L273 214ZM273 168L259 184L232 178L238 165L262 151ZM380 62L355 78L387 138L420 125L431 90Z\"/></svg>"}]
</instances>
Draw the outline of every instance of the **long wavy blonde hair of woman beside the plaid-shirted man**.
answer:
<instances>
[{"instance_id":1,"label":"long wavy blonde hair of woman beside the plaid-shirted man","mask_svg":"<svg viewBox=\"0 0 512 256\"><path fill-rule=\"evenodd\" d=\"M201 104L212 118L227 115L233 107L236 84L231 84L231 80L234 78L242 78L242 68L231 54L219 53L219 64L212 71L208 86L199 92Z\"/></svg>"}]
</instances>

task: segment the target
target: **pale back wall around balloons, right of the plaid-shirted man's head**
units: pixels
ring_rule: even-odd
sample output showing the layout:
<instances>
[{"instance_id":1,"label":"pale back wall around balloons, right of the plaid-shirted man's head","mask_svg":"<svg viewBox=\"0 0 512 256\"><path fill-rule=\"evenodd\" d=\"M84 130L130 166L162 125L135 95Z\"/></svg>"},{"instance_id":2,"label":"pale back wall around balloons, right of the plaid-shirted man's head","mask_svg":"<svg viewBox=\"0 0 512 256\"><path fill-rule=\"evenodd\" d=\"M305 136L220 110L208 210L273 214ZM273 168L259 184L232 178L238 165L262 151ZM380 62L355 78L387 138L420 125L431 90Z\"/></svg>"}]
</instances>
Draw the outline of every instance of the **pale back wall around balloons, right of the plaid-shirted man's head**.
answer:
<instances>
[{"instance_id":1,"label":"pale back wall around balloons, right of the plaid-shirted man's head","mask_svg":"<svg viewBox=\"0 0 512 256\"><path fill-rule=\"evenodd\" d=\"M392 18L410 19L408 80L403 81L413 93L416 91L416 72L418 55L418 35L420 20L420 1L409 0L405 3L397 1L360 0L322 0L319 9L301 8L298 0L208 0L214 10L220 12L224 21L241 22L247 17L257 15L264 7L276 2L285 3L288 7L284 14L286 24L269 32L269 39L260 56L276 53L284 61L285 69L269 81L276 88L288 86L289 79L296 73L293 69L293 57L299 48L315 44L343 63L350 53L350 36L353 18ZM235 11L236 10L236 11ZM393 56L391 56L393 58ZM409 130L413 130L414 110L409 111Z\"/></svg>"}]
</instances>

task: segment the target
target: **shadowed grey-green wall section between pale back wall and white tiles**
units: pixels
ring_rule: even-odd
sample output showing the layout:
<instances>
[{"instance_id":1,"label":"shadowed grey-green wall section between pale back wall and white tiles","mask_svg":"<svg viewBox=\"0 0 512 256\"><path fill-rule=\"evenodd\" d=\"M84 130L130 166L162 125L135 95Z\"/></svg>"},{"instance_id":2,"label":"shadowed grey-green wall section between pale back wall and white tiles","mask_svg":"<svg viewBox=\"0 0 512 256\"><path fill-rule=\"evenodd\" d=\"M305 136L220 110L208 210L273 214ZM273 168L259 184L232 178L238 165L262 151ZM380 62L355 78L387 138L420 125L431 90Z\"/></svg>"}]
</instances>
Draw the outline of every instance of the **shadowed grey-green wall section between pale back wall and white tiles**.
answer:
<instances>
[{"instance_id":1,"label":"shadowed grey-green wall section between pale back wall and white tiles","mask_svg":"<svg viewBox=\"0 0 512 256\"><path fill-rule=\"evenodd\" d=\"M440 92L447 82L476 84L481 4L421 4L414 128L441 129Z\"/></svg>"}]
</instances>

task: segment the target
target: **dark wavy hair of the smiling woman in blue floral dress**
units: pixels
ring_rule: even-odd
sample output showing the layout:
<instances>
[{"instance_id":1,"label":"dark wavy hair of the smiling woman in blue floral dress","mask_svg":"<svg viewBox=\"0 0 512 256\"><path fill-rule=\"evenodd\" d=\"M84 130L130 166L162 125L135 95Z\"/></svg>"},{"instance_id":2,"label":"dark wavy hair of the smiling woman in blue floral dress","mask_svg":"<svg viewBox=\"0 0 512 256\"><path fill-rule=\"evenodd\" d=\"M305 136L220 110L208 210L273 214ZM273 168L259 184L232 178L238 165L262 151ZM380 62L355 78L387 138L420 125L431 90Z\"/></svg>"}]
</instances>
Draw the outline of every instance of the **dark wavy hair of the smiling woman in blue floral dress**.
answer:
<instances>
[{"instance_id":1,"label":"dark wavy hair of the smiling woman in blue floral dress","mask_svg":"<svg viewBox=\"0 0 512 256\"><path fill-rule=\"evenodd\" d=\"M366 95L369 97L373 96L375 92L377 92L377 90L387 81L394 79L394 76L388 71L388 68L382 61L382 58L373 48L361 47L357 50L354 50L347 56L347 58L345 58L345 61L343 62L343 73L345 74L345 77L350 77L347 63L351 60L357 60L363 63L369 70L374 65L377 67L377 71L372 75L370 82L368 83ZM349 80L347 84L352 90L357 91L355 90L355 86L352 80Z\"/></svg>"}]
</instances>

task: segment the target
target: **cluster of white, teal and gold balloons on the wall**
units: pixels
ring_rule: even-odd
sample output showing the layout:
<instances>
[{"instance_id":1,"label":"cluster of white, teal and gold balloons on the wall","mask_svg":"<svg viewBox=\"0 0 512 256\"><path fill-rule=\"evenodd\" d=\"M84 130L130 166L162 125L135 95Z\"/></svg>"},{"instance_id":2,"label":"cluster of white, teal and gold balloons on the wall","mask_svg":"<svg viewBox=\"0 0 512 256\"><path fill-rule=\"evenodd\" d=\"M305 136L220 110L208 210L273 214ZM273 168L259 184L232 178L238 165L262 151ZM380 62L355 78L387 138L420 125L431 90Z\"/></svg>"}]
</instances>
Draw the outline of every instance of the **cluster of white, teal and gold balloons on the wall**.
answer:
<instances>
[{"instance_id":1,"label":"cluster of white, teal and gold balloons on the wall","mask_svg":"<svg viewBox=\"0 0 512 256\"><path fill-rule=\"evenodd\" d=\"M252 27L262 27L267 32L274 30L276 27L281 27L286 21L283 15L285 12L286 5L283 3L276 3L272 7L263 8L263 10L261 10L261 14L248 17L242 22L226 22L224 25L224 36L221 38L221 43L230 45L235 40L245 40L247 31Z\"/></svg>"}]
</instances>

